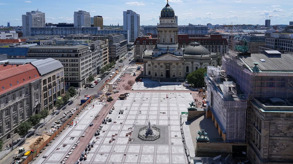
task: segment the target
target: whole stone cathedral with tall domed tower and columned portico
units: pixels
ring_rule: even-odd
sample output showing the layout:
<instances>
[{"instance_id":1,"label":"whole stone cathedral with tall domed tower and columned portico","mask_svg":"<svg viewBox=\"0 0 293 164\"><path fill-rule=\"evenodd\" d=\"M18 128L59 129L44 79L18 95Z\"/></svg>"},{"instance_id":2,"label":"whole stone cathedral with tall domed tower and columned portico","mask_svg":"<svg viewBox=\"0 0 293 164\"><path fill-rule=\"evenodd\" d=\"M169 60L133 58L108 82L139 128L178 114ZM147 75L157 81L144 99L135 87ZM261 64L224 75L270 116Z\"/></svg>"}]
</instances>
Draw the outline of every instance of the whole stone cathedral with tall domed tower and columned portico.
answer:
<instances>
[{"instance_id":1,"label":"whole stone cathedral with tall domed tower and columned portico","mask_svg":"<svg viewBox=\"0 0 293 164\"><path fill-rule=\"evenodd\" d=\"M210 53L199 43L191 43L185 49L178 49L178 25L175 11L169 5L161 10L157 25L157 44L152 50L144 50L144 76L184 80L188 74L199 68L217 66L217 54Z\"/></svg>"}]
</instances>

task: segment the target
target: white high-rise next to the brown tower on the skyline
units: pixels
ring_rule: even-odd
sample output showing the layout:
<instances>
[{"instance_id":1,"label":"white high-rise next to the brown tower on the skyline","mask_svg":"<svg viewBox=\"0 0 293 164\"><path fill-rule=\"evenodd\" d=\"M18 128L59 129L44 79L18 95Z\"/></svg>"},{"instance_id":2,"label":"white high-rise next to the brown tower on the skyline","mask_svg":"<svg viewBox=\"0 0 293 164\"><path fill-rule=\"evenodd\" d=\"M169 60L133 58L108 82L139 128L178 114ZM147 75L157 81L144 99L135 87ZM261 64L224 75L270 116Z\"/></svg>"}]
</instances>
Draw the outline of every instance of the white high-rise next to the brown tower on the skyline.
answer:
<instances>
[{"instance_id":1,"label":"white high-rise next to the brown tower on the skyline","mask_svg":"<svg viewBox=\"0 0 293 164\"><path fill-rule=\"evenodd\" d=\"M91 15L86 11L74 12L74 27L91 27Z\"/></svg>"}]
</instances>

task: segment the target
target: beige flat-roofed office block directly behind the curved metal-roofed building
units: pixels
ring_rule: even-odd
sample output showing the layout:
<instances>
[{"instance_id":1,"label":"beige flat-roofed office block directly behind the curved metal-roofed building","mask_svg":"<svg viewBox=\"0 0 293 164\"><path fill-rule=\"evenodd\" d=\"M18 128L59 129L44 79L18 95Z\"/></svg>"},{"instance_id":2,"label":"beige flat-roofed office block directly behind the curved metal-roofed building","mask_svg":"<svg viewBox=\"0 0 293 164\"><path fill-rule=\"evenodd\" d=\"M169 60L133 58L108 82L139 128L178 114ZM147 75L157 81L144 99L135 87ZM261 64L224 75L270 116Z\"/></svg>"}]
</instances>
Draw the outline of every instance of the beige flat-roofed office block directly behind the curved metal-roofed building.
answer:
<instances>
[{"instance_id":1,"label":"beige flat-roofed office block directly behind the curved metal-roofed building","mask_svg":"<svg viewBox=\"0 0 293 164\"><path fill-rule=\"evenodd\" d=\"M33 46L29 47L27 58L59 60L64 66L66 86L82 87L92 74L92 53L89 45Z\"/></svg>"}]
</instances>

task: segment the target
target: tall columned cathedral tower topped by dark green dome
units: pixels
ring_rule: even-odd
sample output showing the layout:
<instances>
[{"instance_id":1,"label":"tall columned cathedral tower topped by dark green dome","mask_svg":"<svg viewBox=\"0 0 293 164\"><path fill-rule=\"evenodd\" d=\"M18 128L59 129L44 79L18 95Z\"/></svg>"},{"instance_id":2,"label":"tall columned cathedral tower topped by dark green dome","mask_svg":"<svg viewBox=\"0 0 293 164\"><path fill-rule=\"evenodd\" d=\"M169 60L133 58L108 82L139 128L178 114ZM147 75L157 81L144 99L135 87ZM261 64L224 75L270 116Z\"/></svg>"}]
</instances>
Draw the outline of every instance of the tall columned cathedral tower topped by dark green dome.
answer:
<instances>
[{"instance_id":1,"label":"tall columned cathedral tower topped by dark green dome","mask_svg":"<svg viewBox=\"0 0 293 164\"><path fill-rule=\"evenodd\" d=\"M157 25L158 45L161 50L170 51L178 49L178 25L176 24L175 12L169 5L161 10L160 23Z\"/></svg>"}]
</instances>

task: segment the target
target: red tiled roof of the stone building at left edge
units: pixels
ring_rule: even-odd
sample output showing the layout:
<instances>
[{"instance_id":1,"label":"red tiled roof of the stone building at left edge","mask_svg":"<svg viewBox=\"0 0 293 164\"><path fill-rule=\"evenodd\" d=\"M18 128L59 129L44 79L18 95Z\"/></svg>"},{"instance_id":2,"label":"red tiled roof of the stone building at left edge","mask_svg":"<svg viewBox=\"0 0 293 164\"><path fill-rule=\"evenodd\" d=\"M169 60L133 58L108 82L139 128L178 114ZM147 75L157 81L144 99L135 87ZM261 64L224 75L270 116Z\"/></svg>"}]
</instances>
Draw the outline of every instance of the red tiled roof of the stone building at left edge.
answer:
<instances>
[{"instance_id":1,"label":"red tiled roof of the stone building at left edge","mask_svg":"<svg viewBox=\"0 0 293 164\"><path fill-rule=\"evenodd\" d=\"M8 69L0 71L0 95L40 78L37 68L32 64L8 67Z\"/></svg>"}]
</instances>

